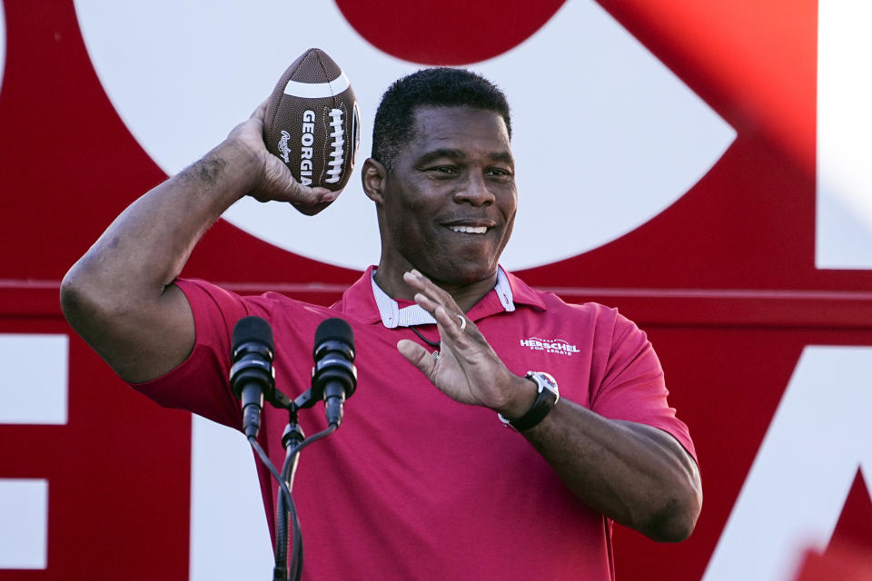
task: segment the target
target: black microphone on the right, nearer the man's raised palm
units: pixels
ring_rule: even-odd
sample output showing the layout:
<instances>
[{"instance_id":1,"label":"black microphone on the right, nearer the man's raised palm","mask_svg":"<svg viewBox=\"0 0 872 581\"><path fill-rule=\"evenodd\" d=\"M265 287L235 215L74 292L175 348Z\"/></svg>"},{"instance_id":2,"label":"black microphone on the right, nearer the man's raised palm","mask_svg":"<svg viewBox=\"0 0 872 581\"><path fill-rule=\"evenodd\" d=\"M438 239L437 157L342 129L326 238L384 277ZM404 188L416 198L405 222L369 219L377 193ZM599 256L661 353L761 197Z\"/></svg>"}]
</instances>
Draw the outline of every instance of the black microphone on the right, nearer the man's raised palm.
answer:
<instances>
[{"instance_id":1,"label":"black microphone on the right, nearer the man's raised palm","mask_svg":"<svg viewBox=\"0 0 872 581\"><path fill-rule=\"evenodd\" d=\"M327 423L339 428L345 398L357 388L354 367L354 331L342 319L322 320L312 349L312 395L324 399Z\"/></svg>"}]
</instances>

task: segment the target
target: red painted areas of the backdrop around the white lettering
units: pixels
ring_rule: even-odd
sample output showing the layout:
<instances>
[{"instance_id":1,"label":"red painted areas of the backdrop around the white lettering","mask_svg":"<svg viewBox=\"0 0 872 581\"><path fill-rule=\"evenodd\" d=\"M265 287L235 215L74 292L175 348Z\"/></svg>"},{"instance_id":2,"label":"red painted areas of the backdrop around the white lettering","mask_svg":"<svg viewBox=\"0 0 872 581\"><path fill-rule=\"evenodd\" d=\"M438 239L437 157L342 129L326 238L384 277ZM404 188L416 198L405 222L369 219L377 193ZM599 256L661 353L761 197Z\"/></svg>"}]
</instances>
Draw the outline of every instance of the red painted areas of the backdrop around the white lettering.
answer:
<instances>
[{"instance_id":1,"label":"red painted areas of the backdrop around the white lettering","mask_svg":"<svg viewBox=\"0 0 872 581\"><path fill-rule=\"evenodd\" d=\"M427 0L413 3L411 13L412 4L399 0L366 10L338 4L385 52L461 64L522 42L561 3L507 9L506 2ZM650 222L520 275L567 300L617 306L649 332L670 403L699 452L705 505L695 534L679 545L618 527L618 574L694 580L803 347L872 345L872 271L815 268L816 2L599 4L738 136L688 194ZM5 0L4 7L0 332L65 333L57 300L64 272L114 216L166 176L104 94L72 2ZM438 15L438 26L421 15ZM584 192L583 180L571 187L595 195ZM357 277L227 222L208 231L184 274L320 303L336 300ZM0 579L113 578L119 571L132 580L186 579L190 418L126 389L74 335L69 402L65 426L0 426L0 478L48 478L51 499L47 569L0 570ZM849 534L868 550L869 528L851 525L850 517L869 514L859 476L846 507L835 537Z\"/></svg>"}]
</instances>

